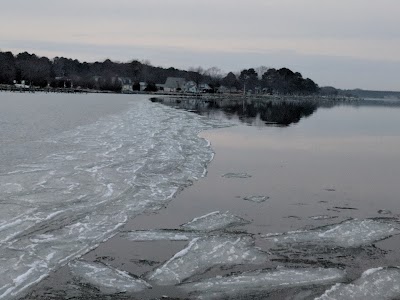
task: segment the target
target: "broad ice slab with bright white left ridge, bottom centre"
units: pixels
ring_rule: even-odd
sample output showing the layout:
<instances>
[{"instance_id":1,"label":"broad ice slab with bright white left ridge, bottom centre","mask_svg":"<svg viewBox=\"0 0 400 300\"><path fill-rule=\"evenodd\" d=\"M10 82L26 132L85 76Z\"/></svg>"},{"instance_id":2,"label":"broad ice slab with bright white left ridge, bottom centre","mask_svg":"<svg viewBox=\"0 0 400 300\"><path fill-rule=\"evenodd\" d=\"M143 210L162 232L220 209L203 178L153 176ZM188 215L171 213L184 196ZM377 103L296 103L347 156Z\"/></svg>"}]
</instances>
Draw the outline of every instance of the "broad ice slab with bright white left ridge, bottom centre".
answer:
<instances>
[{"instance_id":1,"label":"broad ice slab with bright white left ridge, bottom centre","mask_svg":"<svg viewBox=\"0 0 400 300\"><path fill-rule=\"evenodd\" d=\"M249 236L197 238L147 278L157 285L173 285L214 266L262 264L266 260L267 254L255 248Z\"/></svg>"}]
</instances>

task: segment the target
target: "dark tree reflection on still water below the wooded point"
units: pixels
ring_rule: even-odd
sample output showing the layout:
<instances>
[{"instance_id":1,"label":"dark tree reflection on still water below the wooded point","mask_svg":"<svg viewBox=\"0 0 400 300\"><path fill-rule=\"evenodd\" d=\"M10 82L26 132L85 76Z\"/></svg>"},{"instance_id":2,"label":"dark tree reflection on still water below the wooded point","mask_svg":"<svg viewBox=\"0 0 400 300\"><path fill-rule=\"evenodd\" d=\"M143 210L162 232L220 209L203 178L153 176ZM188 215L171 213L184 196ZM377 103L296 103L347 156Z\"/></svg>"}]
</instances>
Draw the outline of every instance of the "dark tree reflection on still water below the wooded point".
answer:
<instances>
[{"instance_id":1,"label":"dark tree reflection on still water below the wooded point","mask_svg":"<svg viewBox=\"0 0 400 300\"><path fill-rule=\"evenodd\" d=\"M318 108L332 108L338 105L360 106L400 106L400 102L382 99L249 99L249 98L151 98L152 102L192 111L212 119L237 119L252 126L287 127L311 116Z\"/></svg>"}]
</instances>

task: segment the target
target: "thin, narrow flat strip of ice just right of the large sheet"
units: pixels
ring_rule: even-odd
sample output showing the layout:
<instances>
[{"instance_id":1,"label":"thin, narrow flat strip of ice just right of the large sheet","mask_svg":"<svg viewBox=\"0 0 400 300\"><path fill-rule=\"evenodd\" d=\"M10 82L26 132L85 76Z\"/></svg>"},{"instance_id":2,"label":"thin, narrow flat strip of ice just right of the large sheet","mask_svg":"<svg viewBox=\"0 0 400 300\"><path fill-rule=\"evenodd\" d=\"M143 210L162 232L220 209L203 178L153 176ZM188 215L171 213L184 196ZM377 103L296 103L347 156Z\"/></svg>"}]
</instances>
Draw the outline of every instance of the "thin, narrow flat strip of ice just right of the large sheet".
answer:
<instances>
[{"instance_id":1,"label":"thin, narrow flat strip of ice just right of the large sheet","mask_svg":"<svg viewBox=\"0 0 400 300\"><path fill-rule=\"evenodd\" d=\"M123 236L134 242L148 241L189 241L200 237L198 232L180 230L137 230L131 231Z\"/></svg>"}]
</instances>

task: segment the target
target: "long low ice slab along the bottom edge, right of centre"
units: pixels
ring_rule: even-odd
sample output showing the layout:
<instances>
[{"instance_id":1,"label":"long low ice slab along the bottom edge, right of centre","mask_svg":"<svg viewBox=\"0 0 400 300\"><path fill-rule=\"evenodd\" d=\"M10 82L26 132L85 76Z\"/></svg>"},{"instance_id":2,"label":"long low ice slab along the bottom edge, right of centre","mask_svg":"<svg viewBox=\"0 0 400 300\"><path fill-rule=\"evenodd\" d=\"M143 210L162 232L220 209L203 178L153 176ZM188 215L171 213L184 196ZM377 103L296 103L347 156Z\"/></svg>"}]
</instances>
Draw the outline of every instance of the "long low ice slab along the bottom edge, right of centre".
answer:
<instances>
[{"instance_id":1,"label":"long low ice slab along the bottom edge, right of centre","mask_svg":"<svg viewBox=\"0 0 400 300\"><path fill-rule=\"evenodd\" d=\"M198 299L236 299L252 293L333 284L342 281L345 275L338 269L282 269L205 279L182 284L180 288Z\"/></svg>"}]
</instances>

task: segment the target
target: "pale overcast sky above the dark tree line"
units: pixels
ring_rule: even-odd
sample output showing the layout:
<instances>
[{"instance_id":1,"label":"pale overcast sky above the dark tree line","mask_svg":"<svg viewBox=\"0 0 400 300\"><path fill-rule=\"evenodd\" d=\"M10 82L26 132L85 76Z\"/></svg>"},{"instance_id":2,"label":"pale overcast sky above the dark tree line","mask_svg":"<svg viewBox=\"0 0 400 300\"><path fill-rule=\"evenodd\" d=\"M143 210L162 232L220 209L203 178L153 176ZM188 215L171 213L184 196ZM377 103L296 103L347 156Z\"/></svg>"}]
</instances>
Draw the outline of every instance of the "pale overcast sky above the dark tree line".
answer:
<instances>
[{"instance_id":1,"label":"pale overcast sky above the dark tree line","mask_svg":"<svg viewBox=\"0 0 400 300\"><path fill-rule=\"evenodd\" d=\"M0 0L0 50L400 90L400 0Z\"/></svg>"}]
</instances>

